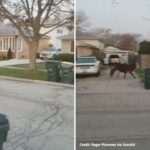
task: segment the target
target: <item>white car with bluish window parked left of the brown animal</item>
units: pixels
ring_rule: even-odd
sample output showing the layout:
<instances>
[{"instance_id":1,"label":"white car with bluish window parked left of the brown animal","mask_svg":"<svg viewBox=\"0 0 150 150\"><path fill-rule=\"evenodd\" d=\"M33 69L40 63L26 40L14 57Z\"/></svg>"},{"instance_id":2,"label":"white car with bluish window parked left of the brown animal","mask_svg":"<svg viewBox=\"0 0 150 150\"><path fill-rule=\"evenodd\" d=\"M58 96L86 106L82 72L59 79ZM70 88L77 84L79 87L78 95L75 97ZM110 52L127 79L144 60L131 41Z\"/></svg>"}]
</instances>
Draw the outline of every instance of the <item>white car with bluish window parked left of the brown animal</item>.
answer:
<instances>
[{"instance_id":1,"label":"white car with bluish window parked left of the brown animal","mask_svg":"<svg viewBox=\"0 0 150 150\"><path fill-rule=\"evenodd\" d=\"M95 56L82 56L76 61L76 74L100 74L101 63Z\"/></svg>"}]
</instances>

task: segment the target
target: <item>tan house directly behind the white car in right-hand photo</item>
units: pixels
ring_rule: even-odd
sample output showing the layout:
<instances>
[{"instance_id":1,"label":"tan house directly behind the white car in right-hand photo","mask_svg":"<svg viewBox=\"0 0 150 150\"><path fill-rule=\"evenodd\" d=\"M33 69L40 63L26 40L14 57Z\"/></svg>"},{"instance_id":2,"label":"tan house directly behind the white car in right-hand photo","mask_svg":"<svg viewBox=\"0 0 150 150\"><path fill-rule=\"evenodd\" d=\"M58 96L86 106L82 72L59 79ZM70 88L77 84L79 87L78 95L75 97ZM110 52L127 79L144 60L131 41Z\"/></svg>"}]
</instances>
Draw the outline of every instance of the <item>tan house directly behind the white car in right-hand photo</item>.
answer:
<instances>
[{"instance_id":1,"label":"tan house directly behind the white car in right-hand photo","mask_svg":"<svg viewBox=\"0 0 150 150\"><path fill-rule=\"evenodd\" d=\"M88 33L77 32L76 34L76 55L89 56L94 55L97 58L100 55L100 50L104 49L104 43L99 37Z\"/></svg>"}]
</instances>

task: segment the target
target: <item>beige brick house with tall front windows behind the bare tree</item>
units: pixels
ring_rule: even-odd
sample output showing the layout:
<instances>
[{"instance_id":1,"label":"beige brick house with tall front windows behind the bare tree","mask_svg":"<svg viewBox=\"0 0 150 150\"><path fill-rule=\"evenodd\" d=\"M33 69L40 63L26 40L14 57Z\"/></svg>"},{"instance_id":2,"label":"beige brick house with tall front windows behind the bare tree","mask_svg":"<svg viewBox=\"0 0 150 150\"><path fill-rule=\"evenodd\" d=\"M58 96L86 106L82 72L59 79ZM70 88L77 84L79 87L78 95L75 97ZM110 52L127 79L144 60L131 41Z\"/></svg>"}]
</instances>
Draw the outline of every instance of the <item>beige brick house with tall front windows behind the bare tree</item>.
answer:
<instances>
[{"instance_id":1,"label":"beige brick house with tall front windows behind the bare tree","mask_svg":"<svg viewBox=\"0 0 150 150\"><path fill-rule=\"evenodd\" d=\"M49 47L49 37L40 39L37 53ZM29 47L19 35L19 32L10 24L0 26L0 57L6 57L11 48L14 58L29 58Z\"/></svg>"}]
</instances>

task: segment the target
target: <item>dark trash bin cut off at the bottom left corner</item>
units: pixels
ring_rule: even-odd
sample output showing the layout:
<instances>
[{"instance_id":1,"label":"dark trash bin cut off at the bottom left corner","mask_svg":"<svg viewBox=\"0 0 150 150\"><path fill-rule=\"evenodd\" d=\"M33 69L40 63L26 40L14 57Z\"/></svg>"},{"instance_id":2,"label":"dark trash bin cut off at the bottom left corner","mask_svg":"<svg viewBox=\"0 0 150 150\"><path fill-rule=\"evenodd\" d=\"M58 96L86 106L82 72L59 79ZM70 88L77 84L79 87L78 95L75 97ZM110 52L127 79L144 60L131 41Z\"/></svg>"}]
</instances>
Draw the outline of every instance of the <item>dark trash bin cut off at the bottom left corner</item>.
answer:
<instances>
[{"instance_id":1,"label":"dark trash bin cut off at the bottom left corner","mask_svg":"<svg viewBox=\"0 0 150 150\"><path fill-rule=\"evenodd\" d=\"M7 140L9 131L9 121L4 114L0 114L0 150L3 149L3 143Z\"/></svg>"}]
</instances>

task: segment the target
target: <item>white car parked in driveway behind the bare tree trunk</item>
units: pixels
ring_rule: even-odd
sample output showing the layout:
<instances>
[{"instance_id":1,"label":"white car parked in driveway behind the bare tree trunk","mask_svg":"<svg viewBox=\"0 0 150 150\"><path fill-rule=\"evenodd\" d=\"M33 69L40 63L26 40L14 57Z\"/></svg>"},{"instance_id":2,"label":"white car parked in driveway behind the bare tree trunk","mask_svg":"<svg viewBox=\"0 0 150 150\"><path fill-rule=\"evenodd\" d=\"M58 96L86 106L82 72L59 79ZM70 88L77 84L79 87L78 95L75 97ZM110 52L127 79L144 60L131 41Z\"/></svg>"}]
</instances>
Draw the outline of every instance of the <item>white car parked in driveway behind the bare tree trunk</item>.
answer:
<instances>
[{"instance_id":1,"label":"white car parked in driveway behind the bare tree trunk","mask_svg":"<svg viewBox=\"0 0 150 150\"><path fill-rule=\"evenodd\" d=\"M48 48L48 49L46 49L40 53L40 58L41 59L49 59L49 58L52 58L53 56L58 55L60 53L61 53L60 49L50 47L50 48Z\"/></svg>"}]
</instances>

